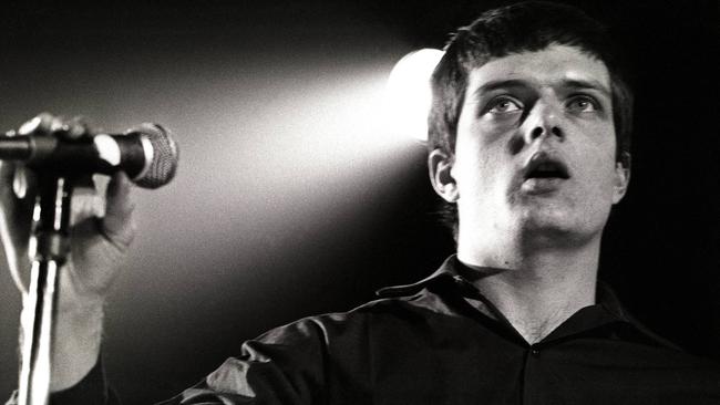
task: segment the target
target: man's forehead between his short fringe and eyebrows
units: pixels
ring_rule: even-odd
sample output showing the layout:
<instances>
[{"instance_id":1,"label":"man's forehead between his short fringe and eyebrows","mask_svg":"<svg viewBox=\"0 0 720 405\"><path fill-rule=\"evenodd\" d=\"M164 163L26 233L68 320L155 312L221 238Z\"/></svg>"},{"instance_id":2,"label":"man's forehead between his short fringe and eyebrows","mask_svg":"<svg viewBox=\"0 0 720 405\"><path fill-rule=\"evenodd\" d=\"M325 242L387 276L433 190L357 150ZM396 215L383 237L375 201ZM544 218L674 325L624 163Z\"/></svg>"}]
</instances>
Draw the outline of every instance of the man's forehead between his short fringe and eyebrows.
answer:
<instances>
[{"instance_id":1,"label":"man's forehead between his short fringe and eyebrows","mask_svg":"<svg viewBox=\"0 0 720 405\"><path fill-rule=\"evenodd\" d=\"M469 91L487 83L520 81L533 86L555 86L568 81L596 83L609 92L605 63L577 48L551 45L536 52L494 59L470 72Z\"/></svg>"}]
</instances>

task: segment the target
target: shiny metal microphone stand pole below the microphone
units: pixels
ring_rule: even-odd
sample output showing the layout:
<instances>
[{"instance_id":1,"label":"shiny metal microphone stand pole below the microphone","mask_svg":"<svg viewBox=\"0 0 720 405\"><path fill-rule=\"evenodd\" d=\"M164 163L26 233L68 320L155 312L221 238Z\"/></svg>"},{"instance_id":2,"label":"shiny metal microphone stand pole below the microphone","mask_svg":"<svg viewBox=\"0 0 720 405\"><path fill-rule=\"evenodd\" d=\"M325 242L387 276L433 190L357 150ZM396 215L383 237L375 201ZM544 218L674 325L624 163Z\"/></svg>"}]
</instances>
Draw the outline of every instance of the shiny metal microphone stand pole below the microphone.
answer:
<instances>
[{"instance_id":1,"label":"shiny metal microphone stand pole below the microphone","mask_svg":"<svg viewBox=\"0 0 720 405\"><path fill-rule=\"evenodd\" d=\"M48 405L50 399L58 270L70 251L68 230L74 178L42 172L38 175L31 239L31 248L33 243L37 248L21 320L19 405Z\"/></svg>"}]
</instances>

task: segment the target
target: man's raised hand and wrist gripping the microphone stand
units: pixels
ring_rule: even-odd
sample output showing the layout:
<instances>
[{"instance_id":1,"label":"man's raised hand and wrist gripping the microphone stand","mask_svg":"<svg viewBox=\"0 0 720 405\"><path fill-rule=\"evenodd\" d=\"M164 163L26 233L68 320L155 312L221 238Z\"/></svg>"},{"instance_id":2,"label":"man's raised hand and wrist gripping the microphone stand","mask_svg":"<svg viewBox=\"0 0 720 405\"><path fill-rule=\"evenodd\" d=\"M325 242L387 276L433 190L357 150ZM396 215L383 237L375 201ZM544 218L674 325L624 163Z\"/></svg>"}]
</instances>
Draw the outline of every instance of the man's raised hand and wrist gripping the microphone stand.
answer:
<instances>
[{"instance_id":1,"label":"man's raised hand and wrist gripping the microphone stand","mask_svg":"<svg viewBox=\"0 0 720 405\"><path fill-rule=\"evenodd\" d=\"M93 131L80 118L40 114L19 133L75 138L92 136ZM0 237L12 277L25 292L35 174L21 164L0 162ZM130 180L119 172L104 196L96 195L90 178L73 196L71 251L59 273L53 391L76 383L97 359L103 305L135 235L130 194Z\"/></svg>"}]
</instances>

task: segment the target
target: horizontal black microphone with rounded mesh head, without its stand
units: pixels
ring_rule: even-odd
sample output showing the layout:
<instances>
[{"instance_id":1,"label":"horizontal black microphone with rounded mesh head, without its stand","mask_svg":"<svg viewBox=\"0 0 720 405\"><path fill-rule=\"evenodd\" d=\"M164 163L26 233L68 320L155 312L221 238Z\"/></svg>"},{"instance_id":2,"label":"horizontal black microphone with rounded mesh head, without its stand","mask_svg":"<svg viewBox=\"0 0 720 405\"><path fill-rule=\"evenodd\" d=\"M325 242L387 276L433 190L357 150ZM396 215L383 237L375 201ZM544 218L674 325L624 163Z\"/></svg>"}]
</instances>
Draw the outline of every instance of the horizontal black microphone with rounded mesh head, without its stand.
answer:
<instances>
[{"instance_id":1,"label":"horizontal black microphone with rounded mesh head, without its stand","mask_svg":"<svg viewBox=\"0 0 720 405\"><path fill-rule=\"evenodd\" d=\"M24 162L35 170L58 175L127 174L143 188L157 188L175 176L177 143L158 124L146 123L125 134L97 134L69 139L61 136L14 131L0 135L0 159Z\"/></svg>"}]
</instances>

